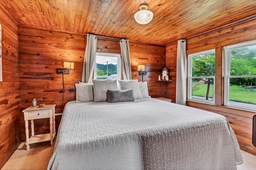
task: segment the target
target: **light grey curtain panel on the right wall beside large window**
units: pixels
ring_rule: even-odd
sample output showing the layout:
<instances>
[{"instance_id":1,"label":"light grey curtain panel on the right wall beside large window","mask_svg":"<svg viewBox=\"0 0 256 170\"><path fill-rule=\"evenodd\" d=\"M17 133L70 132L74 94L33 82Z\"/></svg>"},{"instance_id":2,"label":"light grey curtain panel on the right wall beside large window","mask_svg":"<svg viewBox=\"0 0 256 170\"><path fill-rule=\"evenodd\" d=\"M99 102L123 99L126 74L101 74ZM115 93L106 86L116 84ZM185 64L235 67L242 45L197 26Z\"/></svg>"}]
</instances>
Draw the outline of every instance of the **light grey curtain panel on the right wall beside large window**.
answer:
<instances>
[{"instance_id":1,"label":"light grey curtain panel on the right wall beside large window","mask_svg":"<svg viewBox=\"0 0 256 170\"><path fill-rule=\"evenodd\" d=\"M186 40L178 40L176 72L176 104L186 106Z\"/></svg>"}]
</instances>

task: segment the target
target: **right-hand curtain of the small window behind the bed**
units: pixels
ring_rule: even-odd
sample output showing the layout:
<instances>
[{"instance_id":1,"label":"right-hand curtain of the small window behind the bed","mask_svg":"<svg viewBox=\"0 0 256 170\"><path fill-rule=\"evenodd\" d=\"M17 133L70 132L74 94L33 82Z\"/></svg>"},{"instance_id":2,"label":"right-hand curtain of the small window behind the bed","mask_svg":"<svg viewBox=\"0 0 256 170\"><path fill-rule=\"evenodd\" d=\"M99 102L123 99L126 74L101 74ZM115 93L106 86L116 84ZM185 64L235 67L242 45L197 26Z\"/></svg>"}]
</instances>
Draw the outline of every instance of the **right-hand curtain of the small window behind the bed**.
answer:
<instances>
[{"instance_id":1,"label":"right-hand curtain of the small window behind the bed","mask_svg":"<svg viewBox=\"0 0 256 170\"><path fill-rule=\"evenodd\" d=\"M132 79L132 68L130 60L129 40L122 39L120 41L121 58L122 58L122 74L124 80Z\"/></svg>"}]
</instances>

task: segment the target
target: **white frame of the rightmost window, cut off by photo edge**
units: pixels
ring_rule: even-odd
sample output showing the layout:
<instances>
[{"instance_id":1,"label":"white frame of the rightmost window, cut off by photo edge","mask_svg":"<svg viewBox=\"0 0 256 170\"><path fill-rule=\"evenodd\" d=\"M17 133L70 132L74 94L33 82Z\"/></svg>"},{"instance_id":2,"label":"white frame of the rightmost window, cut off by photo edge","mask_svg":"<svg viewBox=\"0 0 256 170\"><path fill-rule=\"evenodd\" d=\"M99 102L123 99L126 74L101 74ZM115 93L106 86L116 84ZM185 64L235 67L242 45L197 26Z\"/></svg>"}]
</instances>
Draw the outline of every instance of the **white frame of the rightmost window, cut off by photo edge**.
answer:
<instances>
[{"instance_id":1,"label":"white frame of the rightmost window, cut off by photo edge","mask_svg":"<svg viewBox=\"0 0 256 170\"><path fill-rule=\"evenodd\" d=\"M247 47L250 45L256 45L256 41L248 41L245 43L239 43L239 44L228 45L228 46L223 47L223 49L224 49L224 106L256 110L256 105L254 107L252 107L254 104L246 104L246 103L241 104L240 102L229 101L230 78L256 77L256 75L230 76L230 50L236 49L239 47ZM242 106L242 105L244 105L244 106Z\"/></svg>"}]
</instances>

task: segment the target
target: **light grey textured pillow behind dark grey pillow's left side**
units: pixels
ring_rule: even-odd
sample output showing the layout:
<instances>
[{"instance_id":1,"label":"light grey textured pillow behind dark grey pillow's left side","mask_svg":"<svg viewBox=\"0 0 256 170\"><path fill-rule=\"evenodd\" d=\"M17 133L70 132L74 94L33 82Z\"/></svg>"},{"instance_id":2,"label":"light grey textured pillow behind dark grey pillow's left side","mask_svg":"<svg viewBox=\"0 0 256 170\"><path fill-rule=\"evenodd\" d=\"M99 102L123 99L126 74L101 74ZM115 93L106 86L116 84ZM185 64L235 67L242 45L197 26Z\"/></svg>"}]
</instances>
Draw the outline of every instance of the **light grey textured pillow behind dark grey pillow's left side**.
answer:
<instances>
[{"instance_id":1,"label":"light grey textured pillow behind dark grey pillow's left side","mask_svg":"<svg viewBox=\"0 0 256 170\"><path fill-rule=\"evenodd\" d=\"M94 102L106 102L108 100L106 92L108 90L117 90L116 80L92 80Z\"/></svg>"}]
</instances>

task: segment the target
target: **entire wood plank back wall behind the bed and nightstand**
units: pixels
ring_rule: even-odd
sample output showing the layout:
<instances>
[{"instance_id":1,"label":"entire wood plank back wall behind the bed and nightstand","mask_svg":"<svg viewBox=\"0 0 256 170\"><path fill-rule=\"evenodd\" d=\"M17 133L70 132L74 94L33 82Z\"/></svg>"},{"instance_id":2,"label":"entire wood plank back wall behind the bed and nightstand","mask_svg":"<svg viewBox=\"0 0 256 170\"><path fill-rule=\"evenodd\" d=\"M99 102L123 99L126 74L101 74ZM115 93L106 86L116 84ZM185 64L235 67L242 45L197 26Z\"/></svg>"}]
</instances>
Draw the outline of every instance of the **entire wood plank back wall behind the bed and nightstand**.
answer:
<instances>
[{"instance_id":1,"label":"entire wood plank back wall behind the bed and nightstand","mask_svg":"<svg viewBox=\"0 0 256 170\"><path fill-rule=\"evenodd\" d=\"M76 99L75 83L82 80L82 66L86 39L83 34L67 33L29 26L18 27L20 57L20 98L21 109L32 105L36 98L38 104L56 104L56 111L62 113L68 101ZM120 54L120 44L116 41L98 40L97 52ZM165 66L165 47L130 42L132 79L141 81L137 65L145 64L148 74L149 94L164 97L165 85L155 80ZM62 74L56 68L63 68L64 61L74 62L74 69L64 75L64 102L62 104ZM56 129L61 116L56 117ZM49 119L34 121L35 134L49 133ZM30 122L29 122L30 127ZM21 120L22 140L25 140L24 116Z\"/></svg>"}]
</instances>

